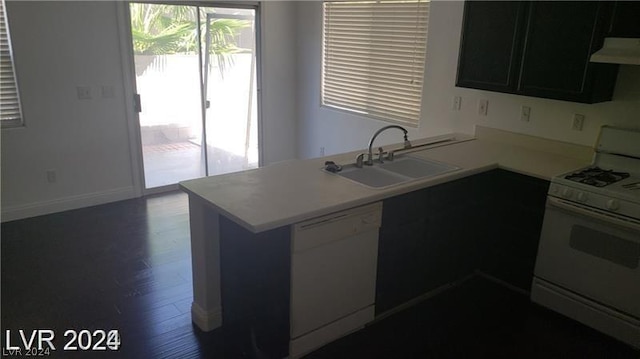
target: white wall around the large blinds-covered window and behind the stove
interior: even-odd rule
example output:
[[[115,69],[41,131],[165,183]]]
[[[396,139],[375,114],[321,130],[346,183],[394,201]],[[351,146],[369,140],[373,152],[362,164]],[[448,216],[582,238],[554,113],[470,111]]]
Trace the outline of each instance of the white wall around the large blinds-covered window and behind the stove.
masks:
[[[621,66],[614,100],[584,105],[455,87],[463,2],[433,1],[429,18],[427,67],[422,116],[411,137],[457,131],[473,133],[476,124],[508,131],[592,145],[602,124],[640,126],[640,66]],[[298,3],[299,156],[317,157],[366,147],[384,122],[320,107],[322,5]],[[452,111],[454,96],[462,96],[460,111]],[[489,100],[489,114],[477,116],[477,101]],[[520,106],[531,107],[531,121],[520,121]],[[571,130],[573,113],[586,115],[582,132]],[[399,142],[389,131],[380,143]]]

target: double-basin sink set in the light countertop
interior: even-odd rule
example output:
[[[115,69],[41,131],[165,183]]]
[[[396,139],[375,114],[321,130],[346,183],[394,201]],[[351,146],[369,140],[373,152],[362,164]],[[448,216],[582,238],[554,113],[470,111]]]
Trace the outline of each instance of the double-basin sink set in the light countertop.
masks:
[[[354,164],[346,165],[337,175],[365,186],[381,188],[425,179],[458,169],[460,168],[447,163],[402,156],[393,161],[374,163],[373,166],[362,168]]]

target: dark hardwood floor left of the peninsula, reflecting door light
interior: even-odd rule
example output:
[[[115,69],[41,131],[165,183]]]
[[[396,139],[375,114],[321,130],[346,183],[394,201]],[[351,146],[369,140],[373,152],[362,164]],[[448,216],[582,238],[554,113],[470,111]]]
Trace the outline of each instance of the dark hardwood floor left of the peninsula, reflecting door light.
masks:
[[[187,197],[152,196],[2,224],[2,329],[118,329],[117,353],[221,357],[191,324]],[[4,334],[3,334],[4,347]]]

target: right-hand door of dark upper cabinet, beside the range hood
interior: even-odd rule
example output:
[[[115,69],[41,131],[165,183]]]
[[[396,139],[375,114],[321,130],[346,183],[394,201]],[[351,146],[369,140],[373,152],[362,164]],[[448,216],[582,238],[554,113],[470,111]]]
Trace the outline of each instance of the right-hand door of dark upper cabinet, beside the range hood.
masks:
[[[518,92],[585,103],[611,100],[617,65],[589,62],[602,45],[609,5],[531,2]]]

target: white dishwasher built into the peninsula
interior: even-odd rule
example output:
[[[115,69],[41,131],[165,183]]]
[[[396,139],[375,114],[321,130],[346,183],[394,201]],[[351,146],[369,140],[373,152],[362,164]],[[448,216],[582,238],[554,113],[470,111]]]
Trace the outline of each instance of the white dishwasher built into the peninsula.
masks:
[[[378,202],[292,226],[290,358],[373,320],[381,221]]]

